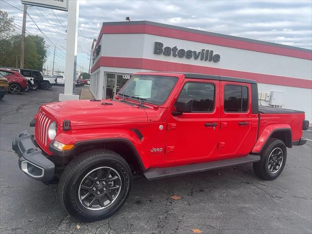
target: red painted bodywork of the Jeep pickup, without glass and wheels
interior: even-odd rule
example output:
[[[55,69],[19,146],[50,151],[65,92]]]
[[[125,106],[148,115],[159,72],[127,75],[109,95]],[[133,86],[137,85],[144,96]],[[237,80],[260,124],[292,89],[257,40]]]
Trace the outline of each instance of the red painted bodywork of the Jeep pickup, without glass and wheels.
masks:
[[[118,100],[75,100],[42,105],[36,115],[35,138],[48,155],[47,127],[57,121],[56,140],[64,144],[77,144],[89,140],[127,140],[137,150],[144,169],[173,167],[259,153],[268,137],[276,129],[290,129],[292,141],[302,136],[304,114],[252,114],[250,83],[185,78],[183,74],[137,73],[137,75],[174,76],[178,80],[162,105],[144,103],[145,107],[130,105]],[[210,113],[183,113],[173,116],[175,103],[184,84],[200,82],[215,87],[215,105]],[[240,85],[248,88],[248,111],[226,113],[224,86]],[[121,99],[116,97],[116,99]],[[138,104],[136,100],[128,100]],[[102,105],[102,103],[110,105]],[[260,117],[260,123],[258,123]],[[62,123],[70,120],[71,129],[63,131]],[[248,122],[239,125],[239,122]],[[216,127],[205,126],[216,123]],[[140,140],[133,130],[139,130]],[[257,136],[258,133],[258,136]]]

